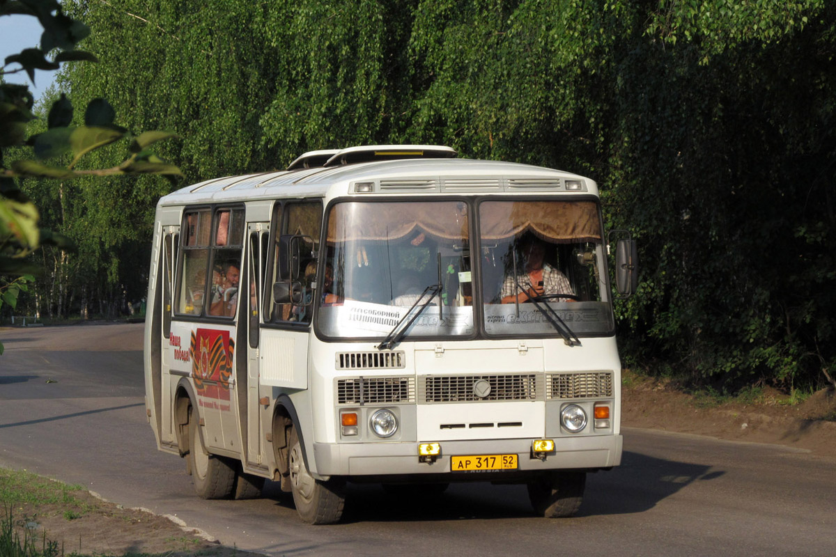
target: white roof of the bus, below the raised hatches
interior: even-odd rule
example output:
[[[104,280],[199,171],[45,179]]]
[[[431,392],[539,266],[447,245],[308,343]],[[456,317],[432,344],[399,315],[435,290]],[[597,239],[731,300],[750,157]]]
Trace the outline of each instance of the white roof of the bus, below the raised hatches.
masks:
[[[362,193],[358,192],[358,183],[367,185]],[[410,158],[215,178],[166,195],[159,205],[338,195],[544,192],[598,195],[598,187],[594,180],[583,176],[540,166],[496,160]]]

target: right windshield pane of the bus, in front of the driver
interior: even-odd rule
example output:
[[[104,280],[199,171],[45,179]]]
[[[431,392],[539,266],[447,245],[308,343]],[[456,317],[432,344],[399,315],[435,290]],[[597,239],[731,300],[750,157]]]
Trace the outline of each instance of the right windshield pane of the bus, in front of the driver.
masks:
[[[483,201],[479,253],[485,332],[611,333],[601,230],[593,201]]]

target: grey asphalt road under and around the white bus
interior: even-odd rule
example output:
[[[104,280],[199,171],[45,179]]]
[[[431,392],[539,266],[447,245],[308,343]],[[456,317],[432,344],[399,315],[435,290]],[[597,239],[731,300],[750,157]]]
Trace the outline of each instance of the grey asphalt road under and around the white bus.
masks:
[[[836,554],[836,461],[776,445],[624,432],[624,463],[591,474],[573,519],[535,517],[521,486],[458,484],[438,499],[351,486],[341,524],[308,526],[274,485],[204,501],[145,419],[142,325],[0,330],[0,466],[174,514],[271,555]]]

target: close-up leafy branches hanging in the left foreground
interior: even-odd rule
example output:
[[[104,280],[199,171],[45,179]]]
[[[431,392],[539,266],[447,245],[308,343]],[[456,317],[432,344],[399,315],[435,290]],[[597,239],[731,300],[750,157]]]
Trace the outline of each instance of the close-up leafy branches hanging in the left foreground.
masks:
[[[0,0],[0,17],[26,15],[38,18],[43,27],[38,48],[24,48],[3,61],[0,78],[24,71],[34,80],[36,69],[57,69],[66,62],[96,62],[97,58],[76,48],[89,34],[89,28],[63,12],[55,0]],[[54,53],[52,58],[48,58]],[[92,99],[84,111],[84,123],[74,125],[73,105],[60,95],[45,114],[46,129],[27,138],[27,124],[35,119],[33,97],[28,86],[0,81],[0,308],[12,309],[18,295],[28,289],[31,273],[38,266],[26,260],[40,246],[66,250],[68,237],[39,226],[38,208],[21,189],[24,178],[69,180],[83,176],[125,174],[180,175],[147,148],[172,136],[166,132],[131,134],[115,124],[115,111],[104,99]],[[119,165],[107,168],[79,168],[89,153],[120,139],[129,142],[129,156]],[[37,160],[21,155],[21,146],[31,148]],[[9,157],[13,154],[13,157]],[[9,160],[9,159],[13,160]],[[69,160],[64,165],[46,160]],[[0,352],[3,345],[0,344]]]

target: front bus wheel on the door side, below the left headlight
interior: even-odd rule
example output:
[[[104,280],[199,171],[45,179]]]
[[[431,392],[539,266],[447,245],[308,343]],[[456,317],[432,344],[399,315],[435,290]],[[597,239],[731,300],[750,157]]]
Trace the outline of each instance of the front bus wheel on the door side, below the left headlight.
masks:
[[[293,504],[299,518],[308,524],[339,522],[345,503],[344,484],[335,480],[322,482],[308,473],[295,427],[290,428],[288,449]]]

